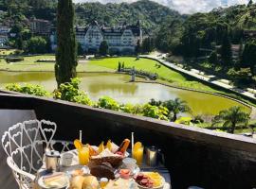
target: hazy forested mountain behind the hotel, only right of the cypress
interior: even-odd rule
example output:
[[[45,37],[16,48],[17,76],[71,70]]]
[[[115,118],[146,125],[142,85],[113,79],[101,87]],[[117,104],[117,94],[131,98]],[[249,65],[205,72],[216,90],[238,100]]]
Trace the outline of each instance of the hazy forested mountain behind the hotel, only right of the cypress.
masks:
[[[100,25],[117,26],[124,22],[136,24],[141,21],[142,28],[152,33],[167,18],[183,19],[177,11],[159,5],[153,1],[141,0],[127,4],[83,3],[76,6],[77,24],[86,25],[97,20]]]

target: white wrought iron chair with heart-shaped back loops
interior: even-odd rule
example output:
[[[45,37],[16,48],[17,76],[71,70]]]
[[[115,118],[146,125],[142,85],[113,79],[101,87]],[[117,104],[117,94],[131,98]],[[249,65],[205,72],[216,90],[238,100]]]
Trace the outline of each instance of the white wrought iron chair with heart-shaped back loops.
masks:
[[[46,148],[55,149],[56,146],[61,152],[70,150],[72,143],[53,140],[56,129],[53,122],[30,120],[14,125],[4,133],[2,146],[19,188],[33,188],[35,173],[43,165]]]

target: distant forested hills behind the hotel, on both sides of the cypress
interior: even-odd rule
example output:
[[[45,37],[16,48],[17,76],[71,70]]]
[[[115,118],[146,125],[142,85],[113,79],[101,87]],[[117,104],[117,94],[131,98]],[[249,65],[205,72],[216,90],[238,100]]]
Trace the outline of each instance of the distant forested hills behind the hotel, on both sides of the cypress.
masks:
[[[21,22],[31,17],[56,21],[57,0],[0,0],[0,19]],[[83,3],[75,6],[76,24],[85,26],[93,20],[101,25],[117,26],[141,21],[143,29],[155,31],[167,18],[181,19],[181,15],[155,2],[141,0],[136,3],[106,4]]]

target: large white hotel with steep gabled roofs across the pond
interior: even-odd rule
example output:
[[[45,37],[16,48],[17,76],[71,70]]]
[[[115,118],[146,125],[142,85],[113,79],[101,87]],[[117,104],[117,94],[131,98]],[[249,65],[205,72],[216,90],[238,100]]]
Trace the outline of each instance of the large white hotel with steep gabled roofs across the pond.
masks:
[[[101,43],[108,43],[109,52],[112,54],[133,54],[136,51],[137,43],[142,43],[142,29],[139,21],[135,26],[105,27],[99,26],[94,21],[85,27],[77,26],[76,37],[78,43],[82,45],[84,52],[96,53],[99,51]],[[55,33],[51,36],[52,47],[56,47]]]

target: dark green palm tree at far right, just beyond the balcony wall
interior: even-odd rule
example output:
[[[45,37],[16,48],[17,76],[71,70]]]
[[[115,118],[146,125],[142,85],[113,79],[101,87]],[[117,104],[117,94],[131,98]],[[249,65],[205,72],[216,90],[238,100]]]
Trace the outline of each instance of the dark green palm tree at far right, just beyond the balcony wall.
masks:
[[[223,127],[229,128],[229,133],[234,133],[238,124],[245,124],[247,126],[249,114],[243,112],[241,107],[235,106],[219,112],[212,120],[212,125],[223,123]]]

